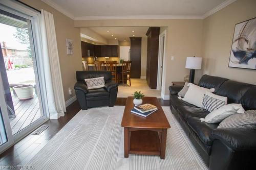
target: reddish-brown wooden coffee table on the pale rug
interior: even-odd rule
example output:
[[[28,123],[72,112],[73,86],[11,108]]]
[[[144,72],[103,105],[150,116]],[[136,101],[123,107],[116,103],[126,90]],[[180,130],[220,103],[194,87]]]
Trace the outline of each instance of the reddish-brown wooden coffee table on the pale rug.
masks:
[[[124,157],[129,154],[160,155],[165,157],[168,120],[157,98],[144,97],[143,104],[150,103],[158,110],[148,117],[131,113],[133,97],[126,100],[121,126],[124,128]]]

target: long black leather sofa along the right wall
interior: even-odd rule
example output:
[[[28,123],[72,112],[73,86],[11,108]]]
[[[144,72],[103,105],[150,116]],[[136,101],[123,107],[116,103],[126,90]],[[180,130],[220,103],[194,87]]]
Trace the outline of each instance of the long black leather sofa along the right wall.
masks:
[[[228,103],[256,109],[256,86],[221,77],[204,75],[199,86],[215,88]],[[209,169],[256,169],[256,130],[217,129],[219,124],[201,122],[209,111],[178,99],[183,86],[169,86],[170,109]]]

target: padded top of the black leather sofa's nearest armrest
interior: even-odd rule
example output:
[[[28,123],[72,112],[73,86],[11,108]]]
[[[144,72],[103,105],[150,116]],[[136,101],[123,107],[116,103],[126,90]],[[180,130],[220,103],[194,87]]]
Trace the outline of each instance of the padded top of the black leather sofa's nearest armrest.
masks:
[[[219,139],[235,151],[256,150],[256,129],[215,129],[210,139]]]

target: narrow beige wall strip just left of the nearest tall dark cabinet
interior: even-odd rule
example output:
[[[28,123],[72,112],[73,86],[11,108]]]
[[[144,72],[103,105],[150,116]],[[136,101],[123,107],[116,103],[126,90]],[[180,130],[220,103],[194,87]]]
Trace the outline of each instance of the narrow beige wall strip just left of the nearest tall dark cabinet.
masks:
[[[141,71],[140,76],[146,76],[146,55],[147,55],[147,38],[141,38]]]

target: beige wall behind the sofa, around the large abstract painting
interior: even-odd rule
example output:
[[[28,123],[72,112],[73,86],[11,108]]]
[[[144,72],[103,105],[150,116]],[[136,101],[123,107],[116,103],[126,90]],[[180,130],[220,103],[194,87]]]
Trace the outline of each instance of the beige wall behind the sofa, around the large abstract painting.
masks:
[[[209,74],[256,84],[256,71],[229,68],[229,55],[236,23],[256,16],[255,0],[238,0],[203,20],[203,69],[196,75]]]

